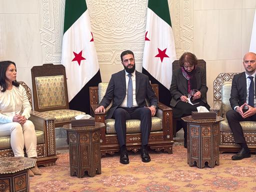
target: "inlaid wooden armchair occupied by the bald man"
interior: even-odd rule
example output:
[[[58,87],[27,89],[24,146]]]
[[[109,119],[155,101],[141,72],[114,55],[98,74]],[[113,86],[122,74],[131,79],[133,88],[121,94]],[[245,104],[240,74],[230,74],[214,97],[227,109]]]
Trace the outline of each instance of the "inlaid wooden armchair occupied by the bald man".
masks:
[[[213,103],[211,110],[216,111],[217,115],[225,120],[220,122],[219,151],[239,151],[240,145],[235,144],[233,133],[228,125],[225,114],[231,109],[229,98],[231,91],[232,78],[237,73],[220,73],[213,81]],[[240,122],[245,140],[251,151],[256,151],[256,122]]]

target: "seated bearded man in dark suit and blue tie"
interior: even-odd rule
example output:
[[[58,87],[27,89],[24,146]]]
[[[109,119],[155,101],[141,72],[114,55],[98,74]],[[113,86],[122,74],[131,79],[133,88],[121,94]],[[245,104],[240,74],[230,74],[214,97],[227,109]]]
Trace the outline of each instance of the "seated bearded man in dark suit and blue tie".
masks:
[[[128,164],[126,148],[126,120],[140,119],[141,148],[140,156],[143,162],[149,162],[147,152],[148,137],[151,130],[151,116],[157,108],[157,97],[151,87],[148,76],[135,70],[134,54],[130,50],[121,53],[121,63],[124,70],[112,74],[106,92],[95,112],[105,112],[112,101],[113,104],[106,114],[114,118],[114,128],[120,146],[120,163]],[[150,106],[146,106],[148,99]]]

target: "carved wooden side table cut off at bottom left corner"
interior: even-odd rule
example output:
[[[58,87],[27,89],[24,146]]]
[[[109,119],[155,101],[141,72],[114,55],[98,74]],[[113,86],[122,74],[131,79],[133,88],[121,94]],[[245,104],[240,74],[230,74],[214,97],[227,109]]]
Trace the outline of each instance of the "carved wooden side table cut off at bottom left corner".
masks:
[[[0,158],[0,191],[30,191],[27,169],[35,166],[36,159],[22,156]]]

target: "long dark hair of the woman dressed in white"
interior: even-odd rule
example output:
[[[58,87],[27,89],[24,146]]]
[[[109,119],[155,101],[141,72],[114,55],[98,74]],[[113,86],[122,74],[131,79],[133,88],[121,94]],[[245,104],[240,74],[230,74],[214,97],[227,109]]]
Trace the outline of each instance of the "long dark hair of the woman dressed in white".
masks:
[[[7,82],[5,81],[5,79],[6,79],[5,73],[10,64],[14,64],[14,66],[16,67],[15,62],[13,62],[13,61],[10,61],[10,60],[0,61],[0,89],[1,89],[1,92],[4,92],[8,87]],[[14,80],[14,81],[12,81],[12,85],[19,86],[19,83],[16,80]]]

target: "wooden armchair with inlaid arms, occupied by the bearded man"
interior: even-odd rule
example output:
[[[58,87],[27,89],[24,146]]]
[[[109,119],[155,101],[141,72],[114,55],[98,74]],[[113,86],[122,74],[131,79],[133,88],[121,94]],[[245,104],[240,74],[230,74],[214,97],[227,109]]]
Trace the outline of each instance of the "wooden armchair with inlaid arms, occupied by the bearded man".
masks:
[[[96,122],[104,122],[105,127],[100,129],[100,152],[113,154],[119,151],[119,144],[114,130],[114,119],[106,119],[106,113],[94,113],[98,103],[105,94],[108,83],[99,83],[98,86],[89,87],[91,114]],[[158,85],[152,84],[158,98]],[[111,104],[110,104],[111,105]],[[106,109],[108,109],[108,106]],[[126,146],[128,150],[136,152],[141,145],[139,130],[140,120],[126,120]],[[164,150],[172,153],[172,110],[162,103],[158,104],[156,115],[152,117],[152,128],[149,135],[148,146],[156,151]]]

